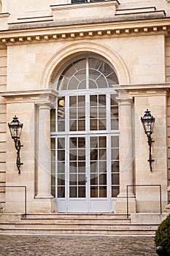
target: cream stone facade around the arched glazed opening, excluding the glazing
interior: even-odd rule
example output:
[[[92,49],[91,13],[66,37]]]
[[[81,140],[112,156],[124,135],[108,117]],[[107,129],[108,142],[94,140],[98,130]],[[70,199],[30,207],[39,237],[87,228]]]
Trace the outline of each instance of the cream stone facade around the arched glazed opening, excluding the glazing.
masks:
[[[19,8],[18,8],[19,6]],[[50,108],[58,97],[55,76],[75,56],[95,53],[114,67],[119,84],[120,194],[115,212],[126,211],[127,185],[161,185],[169,203],[170,1],[1,1],[0,181],[26,186],[28,212],[57,211],[50,192]],[[152,172],[140,117],[155,116]],[[7,123],[23,123],[21,174]],[[0,189],[5,211],[23,211],[23,190]],[[131,212],[159,212],[159,187],[129,188]]]

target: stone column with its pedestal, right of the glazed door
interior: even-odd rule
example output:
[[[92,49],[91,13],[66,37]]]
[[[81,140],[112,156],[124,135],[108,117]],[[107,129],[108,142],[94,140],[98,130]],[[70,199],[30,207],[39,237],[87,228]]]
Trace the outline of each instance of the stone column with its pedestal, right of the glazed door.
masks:
[[[133,185],[133,127],[132,127],[132,104],[133,99],[129,96],[117,97],[120,110],[120,194],[115,202],[115,211],[125,213],[127,206],[126,187]],[[135,200],[133,187],[128,188],[129,211],[135,212]],[[132,199],[133,198],[133,199]]]

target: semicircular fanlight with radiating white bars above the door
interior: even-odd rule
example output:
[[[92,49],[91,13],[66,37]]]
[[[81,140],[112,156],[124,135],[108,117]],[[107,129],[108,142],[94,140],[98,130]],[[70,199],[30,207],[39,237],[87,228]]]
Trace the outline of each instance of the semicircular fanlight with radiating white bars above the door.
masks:
[[[58,91],[104,89],[112,88],[118,80],[115,70],[104,59],[97,59],[92,55],[72,61],[54,83]]]

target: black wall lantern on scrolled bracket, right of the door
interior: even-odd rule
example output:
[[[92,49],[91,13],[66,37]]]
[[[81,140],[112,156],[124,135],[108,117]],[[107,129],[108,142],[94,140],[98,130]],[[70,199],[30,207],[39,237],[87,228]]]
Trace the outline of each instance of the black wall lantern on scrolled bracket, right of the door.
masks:
[[[141,121],[144,127],[144,132],[147,135],[147,143],[150,147],[149,159],[147,161],[150,162],[150,171],[152,172],[152,162],[154,162],[155,160],[152,159],[152,155],[151,155],[151,145],[152,145],[152,142],[154,142],[154,140],[152,140],[151,138],[151,135],[153,132],[155,118],[151,115],[148,109],[144,113],[145,113],[144,116],[141,117]]]

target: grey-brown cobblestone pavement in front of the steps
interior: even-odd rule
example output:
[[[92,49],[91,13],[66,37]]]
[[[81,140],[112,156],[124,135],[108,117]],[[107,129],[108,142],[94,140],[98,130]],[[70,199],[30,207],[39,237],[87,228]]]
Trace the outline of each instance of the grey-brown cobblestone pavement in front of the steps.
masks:
[[[150,236],[0,235],[1,256],[156,256]]]

